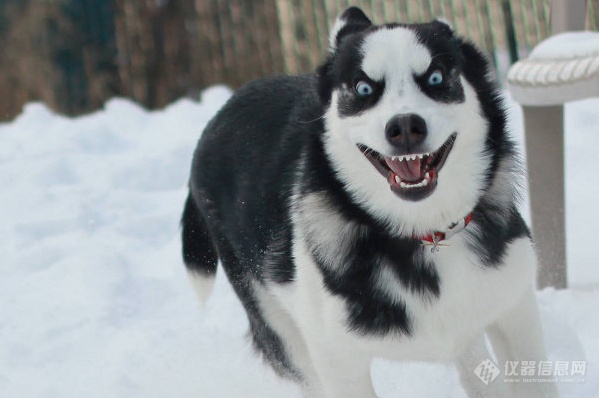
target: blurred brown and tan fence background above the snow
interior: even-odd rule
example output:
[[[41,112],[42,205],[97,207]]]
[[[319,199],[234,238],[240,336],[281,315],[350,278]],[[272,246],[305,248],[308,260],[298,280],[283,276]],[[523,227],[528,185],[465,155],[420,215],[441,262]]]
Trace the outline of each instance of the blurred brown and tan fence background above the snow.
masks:
[[[213,84],[311,72],[336,15],[442,16],[485,49],[502,80],[550,35],[550,0],[0,0],[0,121],[39,100],[79,115],[114,96],[161,108]],[[598,0],[586,29],[598,30]]]

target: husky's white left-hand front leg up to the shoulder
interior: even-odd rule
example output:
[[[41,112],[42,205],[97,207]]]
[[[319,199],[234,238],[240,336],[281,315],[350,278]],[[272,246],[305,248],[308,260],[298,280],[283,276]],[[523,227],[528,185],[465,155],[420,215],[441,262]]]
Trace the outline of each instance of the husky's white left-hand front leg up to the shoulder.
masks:
[[[286,287],[271,286],[270,305],[265,306],[265,295],[260,295],[265,317],[269,322],[274,320],[274,308],[278,308],[293,322],[294,327],[273,326],[284,336],[283,340],[292,337],[293,341],[302,342],[295,348],[303,346],[305,351],[296,353],[292,360],[302,373],[309,375],[303,384],[306,397],[375,397],[369,372],[372,354],[355,346],[364,342],[347,333],[344,302],[326,291],[321,274],[302,243],[303,234],[295,233],[296,279]]]

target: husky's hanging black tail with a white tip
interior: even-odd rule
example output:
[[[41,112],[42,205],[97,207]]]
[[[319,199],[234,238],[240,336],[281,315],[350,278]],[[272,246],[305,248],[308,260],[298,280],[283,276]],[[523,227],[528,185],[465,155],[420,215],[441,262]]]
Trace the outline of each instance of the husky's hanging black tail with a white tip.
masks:
[[[191,193],[185,202],[181,227],[183,261],[192,286],[204,307],[215,284],[219,257],[206,221],[194,203]]]

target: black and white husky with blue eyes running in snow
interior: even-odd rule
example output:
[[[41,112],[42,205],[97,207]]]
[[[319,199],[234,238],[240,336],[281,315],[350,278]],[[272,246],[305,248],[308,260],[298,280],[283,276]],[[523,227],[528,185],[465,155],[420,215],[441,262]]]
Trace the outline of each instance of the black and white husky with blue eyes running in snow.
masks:
[[[555,396],[474,372],[545,359],[487,61],[444,22],[357,8],[330,46],[316,74],[250,83],[206,127],[182,220],[200,294],[220,260],[255,347],[307,397],[375,397],[374,357],[454,361],[469,396]]]

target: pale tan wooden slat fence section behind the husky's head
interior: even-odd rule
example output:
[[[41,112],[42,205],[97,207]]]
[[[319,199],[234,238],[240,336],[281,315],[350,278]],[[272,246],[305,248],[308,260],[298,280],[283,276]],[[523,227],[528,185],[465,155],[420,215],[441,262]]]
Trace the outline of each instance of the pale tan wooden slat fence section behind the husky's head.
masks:
[[[516,51],[513,57],[523,56],[549,35],[549,7],[545,0],[280,0],[286,71],[297,73],[319,62],[326,51],[327,42],[322,37],[329,21],[352,4],[363,8],[374,22],[426,22],[443,17],[459,34],[487,50],[496,58],[497,66],[504,69],[510,61],[511,45]],[[509,42],[511,35],[514,40]]]

